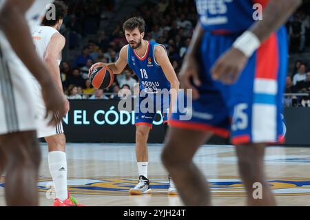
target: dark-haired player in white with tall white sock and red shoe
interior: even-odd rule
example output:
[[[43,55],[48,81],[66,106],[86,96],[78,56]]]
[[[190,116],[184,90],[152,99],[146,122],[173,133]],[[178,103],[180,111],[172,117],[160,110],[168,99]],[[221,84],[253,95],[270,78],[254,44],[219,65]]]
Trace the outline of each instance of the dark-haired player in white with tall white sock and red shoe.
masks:
[[[57,85],[60,93],[63,93],[59,64],[61,63],[61,50],[65,47],[65,37],[59,33],[63,18],[67,13],[67,6],[63,1],[54,1],[55,19],[48,19],[45,15],[41,26],[34,29],[32,38],[41,60],[52,74],[52,81]],[[48,12],[50,13],[50,12]],[[56,199],[54,206],[78,206],[74,197],[68,193],[67,186],[67,158],[65,155],[65,134],[63,124],[59,122],[49,126],[44,119],[45,104],[41,96],[41,86],[32,77],[32,90],[35,94],[34,109],[37,110],[37,137],[44,137],[48,143],[48,166],[54,181]],[[65,96],[63,95],[65,98]],[[69,111],[69,102],[65,99],[65,111]]]

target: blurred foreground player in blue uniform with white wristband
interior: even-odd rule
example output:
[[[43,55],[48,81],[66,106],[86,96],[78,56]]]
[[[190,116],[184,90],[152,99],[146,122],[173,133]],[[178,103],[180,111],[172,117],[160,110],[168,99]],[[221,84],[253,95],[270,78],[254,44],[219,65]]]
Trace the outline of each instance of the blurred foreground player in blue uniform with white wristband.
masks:
[[[247,204],[276,204],[265,180],[264,151],[267,143],[283,141],[287,70],[283,24],[300,3],[196,0],[199,22],[180,72],[181,88],[193,89],[192,109],[187,109],[192,119],[180,120],[187,111],[172,113],[162,154],[185,205],[211,204],[209,186],[192,158],[214,134],[230,135],[236,145]],[[262,17],[253,8],[258,13],[262,8]],[[262,197],[254,198],[255,183],[261,184]]]

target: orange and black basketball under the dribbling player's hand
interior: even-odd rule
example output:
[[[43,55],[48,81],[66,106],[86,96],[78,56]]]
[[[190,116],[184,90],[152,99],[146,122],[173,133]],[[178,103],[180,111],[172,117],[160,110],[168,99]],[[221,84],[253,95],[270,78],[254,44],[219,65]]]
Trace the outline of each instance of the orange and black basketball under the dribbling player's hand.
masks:
[[[107,89],[114,82],[114,74],[109,67],[96,67],[90,74],[90,83],[96,89]]]

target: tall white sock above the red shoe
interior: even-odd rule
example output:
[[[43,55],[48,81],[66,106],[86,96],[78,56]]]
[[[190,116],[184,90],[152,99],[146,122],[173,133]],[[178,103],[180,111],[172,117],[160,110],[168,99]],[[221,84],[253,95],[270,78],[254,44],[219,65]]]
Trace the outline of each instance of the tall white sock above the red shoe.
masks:
[[[56,198],[68,199],[67,188],[67,158],[63,151],[51,151],[48,153],[48,166],[55,184]]]

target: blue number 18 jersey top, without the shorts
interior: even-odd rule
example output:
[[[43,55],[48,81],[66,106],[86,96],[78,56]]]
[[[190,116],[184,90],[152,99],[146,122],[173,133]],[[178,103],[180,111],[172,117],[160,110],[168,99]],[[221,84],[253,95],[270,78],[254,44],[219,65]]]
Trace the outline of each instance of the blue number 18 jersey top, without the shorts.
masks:
[[[161,69],[161,66],[155,60],[154,50],[156,45],[160,44],[154,41],[147,41],[147,52],[142,58],[136,54],[130,45],[128,45],[127,51],[127,64],[134,70],[136,76],[138,76],[140,90],[144,90],[148,94],[157,93],[158,89],[170,89],[170,83],[163,69]]]

